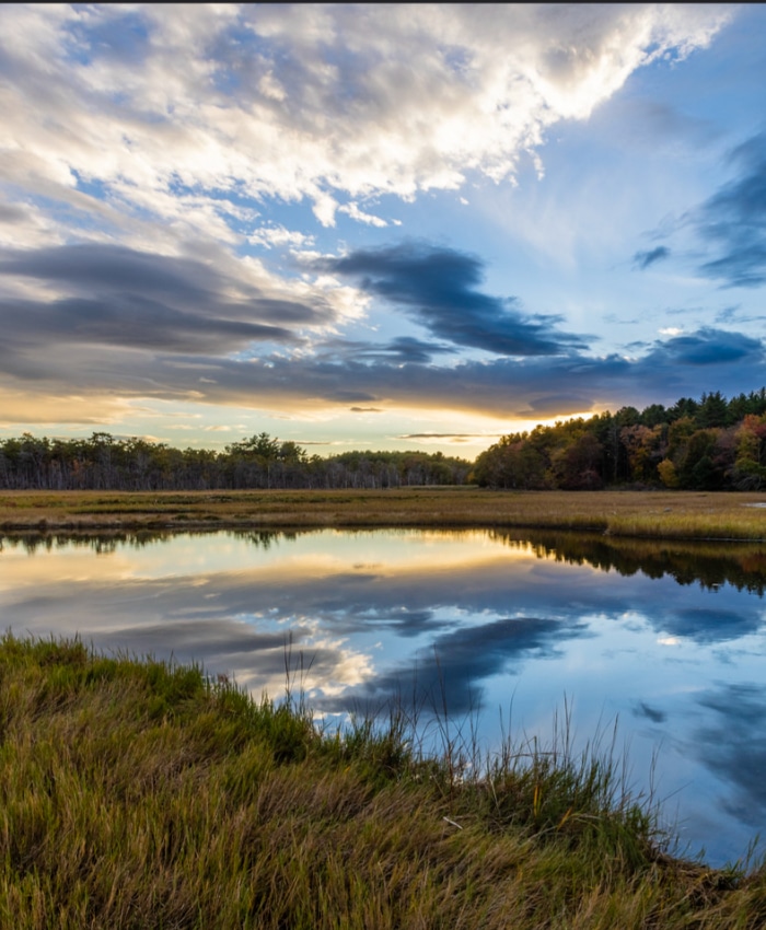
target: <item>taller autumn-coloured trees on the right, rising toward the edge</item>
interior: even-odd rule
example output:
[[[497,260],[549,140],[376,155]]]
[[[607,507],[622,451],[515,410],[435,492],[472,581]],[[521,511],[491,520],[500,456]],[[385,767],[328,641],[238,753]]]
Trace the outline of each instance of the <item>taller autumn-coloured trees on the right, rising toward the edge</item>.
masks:
[[[511,433],[478,456],[472,479],[522,489],[766,488],[766,388],[730,400],[717,391],[672,407],[623,407]]]

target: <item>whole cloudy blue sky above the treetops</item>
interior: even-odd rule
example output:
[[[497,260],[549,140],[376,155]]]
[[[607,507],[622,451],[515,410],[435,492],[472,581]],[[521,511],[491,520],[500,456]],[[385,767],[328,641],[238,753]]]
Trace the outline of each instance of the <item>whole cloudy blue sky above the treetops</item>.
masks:
[[[766,385],[766,7],[2,4],[0,439],[473,458]]]

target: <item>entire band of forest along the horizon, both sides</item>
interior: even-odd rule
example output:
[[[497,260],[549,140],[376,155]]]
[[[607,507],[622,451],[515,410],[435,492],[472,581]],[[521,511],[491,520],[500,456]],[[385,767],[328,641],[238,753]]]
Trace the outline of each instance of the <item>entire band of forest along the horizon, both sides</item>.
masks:
[[[94,432],[89,439],[0,440],[7,490],[399,488],[597,490],[766,487],[766,388],[720,392],[671,407],[610,411],[509,433],[474,463],[441,452],[351,451],[322,457],[262,432],[221,451],[174,449]]]

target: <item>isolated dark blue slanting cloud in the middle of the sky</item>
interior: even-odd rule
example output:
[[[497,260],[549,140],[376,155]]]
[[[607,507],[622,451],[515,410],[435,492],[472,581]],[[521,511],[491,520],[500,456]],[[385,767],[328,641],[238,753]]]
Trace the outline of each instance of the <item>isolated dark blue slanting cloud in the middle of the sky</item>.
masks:
[[[316,264],[384,298],[456,346],[499,356],[557,356],[585,346],[581,337],[556,329],[559,317],[525,315],[517,298],[483,293],[481,261],[456,249],[404,243]]]

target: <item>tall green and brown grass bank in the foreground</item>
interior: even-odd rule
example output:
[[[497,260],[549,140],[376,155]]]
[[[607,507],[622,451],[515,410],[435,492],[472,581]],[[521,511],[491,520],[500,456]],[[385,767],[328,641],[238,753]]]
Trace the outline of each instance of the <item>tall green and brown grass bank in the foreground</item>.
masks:
[[[0,643],[0,926],[756,928],[766,871],[658,846],[593,752],[421,758],[196,669]],[[469,751],[471,747],[467,747]],[[463,772],[463,775],[461,775]]]

